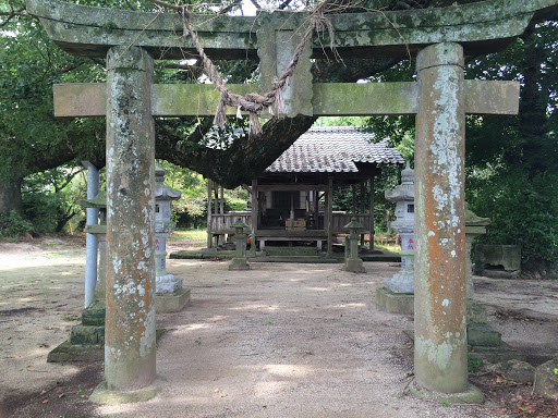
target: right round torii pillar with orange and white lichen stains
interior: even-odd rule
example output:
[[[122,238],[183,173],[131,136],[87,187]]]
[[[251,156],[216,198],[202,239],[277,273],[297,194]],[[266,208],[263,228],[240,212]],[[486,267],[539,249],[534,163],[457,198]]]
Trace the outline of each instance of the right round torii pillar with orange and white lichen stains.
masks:
[[[416,58],[415,346],[417,394],[480,402],[468,382],[463,48],[436,44]],[[438,396],[436,395],[438,394]]]

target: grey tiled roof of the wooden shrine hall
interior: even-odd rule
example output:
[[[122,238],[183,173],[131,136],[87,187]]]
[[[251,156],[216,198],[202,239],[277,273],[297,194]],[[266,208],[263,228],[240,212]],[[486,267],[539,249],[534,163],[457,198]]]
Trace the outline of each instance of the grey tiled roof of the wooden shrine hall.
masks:
[[[354,127],[312,127],[266,169],[268,173],[357,173],[355,162],[402,164],[387,140],[369,143],[372,134]]]

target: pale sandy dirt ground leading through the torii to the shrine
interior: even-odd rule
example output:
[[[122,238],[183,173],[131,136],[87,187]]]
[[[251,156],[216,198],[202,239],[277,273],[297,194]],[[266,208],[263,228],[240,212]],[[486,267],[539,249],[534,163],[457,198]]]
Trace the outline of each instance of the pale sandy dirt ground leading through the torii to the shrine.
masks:
[[[0,243],[0,418],[521,416],[519,388],[498,388],[480,406],[404,395],[412,346],[402,331],[412,317],[376,308],[376,286],[398,270],[381,262],[352,274],[338,265],[229,272],[227,262],[168,260],[192,304],[158,315],[167,330],[157,348],[161,394],[97,407],[87,395],[102,365],[46,362],[81,312],[84,259],[65,241]],[[477,278],[476,287],[505,341],[556,356],[557,283]]]

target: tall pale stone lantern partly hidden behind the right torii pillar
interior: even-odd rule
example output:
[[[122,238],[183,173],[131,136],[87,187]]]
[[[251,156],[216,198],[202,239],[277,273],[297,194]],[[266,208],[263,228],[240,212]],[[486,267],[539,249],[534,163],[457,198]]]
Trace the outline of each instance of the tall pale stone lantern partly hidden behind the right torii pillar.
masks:
[[[396,202],[397,220],[391,223],[401,237],[401,270],[387,279],[385,286],[393,293],[414,293],[414,171],[401,172],[401,184],[386,190],[386,199]]]

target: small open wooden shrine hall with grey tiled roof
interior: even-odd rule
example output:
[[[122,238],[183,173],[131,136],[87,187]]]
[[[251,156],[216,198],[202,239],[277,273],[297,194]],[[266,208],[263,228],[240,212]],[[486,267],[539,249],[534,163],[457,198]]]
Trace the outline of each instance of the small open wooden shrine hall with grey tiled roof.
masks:
[[[210,189],[216,185],[209,185],[208,246],[215,247],[220,236],[233,234],[231,225],[241,218],[256,244],[253,253],[280,242],[315,243],[319,249],[327,243],[331,253],[335,235],[348,233],[343,226],[355,217],[364,226],[361,243],[364,234],[369,234],[373,248],[374,177],[381,173],[381,164],[404,161],[387,140],[374,144],[371,138],[372,134],[354,127],[312,127],[252,181],[248,211],[223,213],[223,205],[215,205],[213,212]],[[352,189],[351,213],[332,210],[332,193],[339,187]],[[372,192],[369,201],[361,199],[360,207],[357,187],[361,197],[366,187]]]

